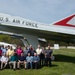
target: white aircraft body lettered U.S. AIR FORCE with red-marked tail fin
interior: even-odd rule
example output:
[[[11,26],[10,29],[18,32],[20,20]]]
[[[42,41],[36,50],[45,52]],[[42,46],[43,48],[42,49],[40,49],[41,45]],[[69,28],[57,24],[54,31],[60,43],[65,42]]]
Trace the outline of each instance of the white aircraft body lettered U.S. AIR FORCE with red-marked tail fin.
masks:
[[[67,24],[66,24],[67,23]],[[0,14],[0,30],[58,41],[75,41],[75,14],[52,25]]]

